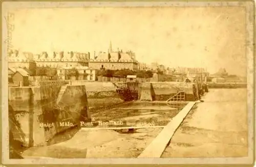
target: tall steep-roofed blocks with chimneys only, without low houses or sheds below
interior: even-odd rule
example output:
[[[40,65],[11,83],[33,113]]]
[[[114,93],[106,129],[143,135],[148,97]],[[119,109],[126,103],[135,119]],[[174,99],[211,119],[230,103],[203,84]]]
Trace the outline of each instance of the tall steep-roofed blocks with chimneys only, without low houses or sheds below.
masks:
[[[9,67],[33,67],[49,66],[53,68],[63,67],[88,67],[90,69],[130,69],[138,70],[143,68],[135,59],[135,53],[130,51],[112,50],[112,44],[108,52],[94,52],[93,57],[90,52],[42,52],[33,54],[30,52],[19,52],[17,50],[8,53]]]

